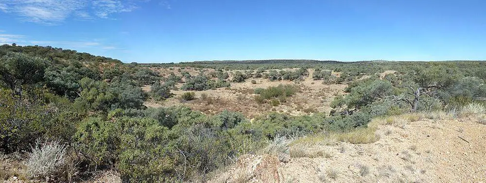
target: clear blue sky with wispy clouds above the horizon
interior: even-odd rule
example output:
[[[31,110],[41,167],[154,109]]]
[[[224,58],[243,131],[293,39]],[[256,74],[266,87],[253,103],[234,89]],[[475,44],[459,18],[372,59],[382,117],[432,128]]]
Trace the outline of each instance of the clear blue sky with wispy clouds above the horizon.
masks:
[[[485,0],[0,0],[0,44],[125,63],[486,60]]]

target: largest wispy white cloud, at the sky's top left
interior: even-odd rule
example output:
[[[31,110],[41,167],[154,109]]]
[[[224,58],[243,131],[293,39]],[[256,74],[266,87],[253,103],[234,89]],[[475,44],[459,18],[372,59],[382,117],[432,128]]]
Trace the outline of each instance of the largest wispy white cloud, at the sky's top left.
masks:
[[[16,14],[22,21],[57,24],[69,17],[80,19],[108,18],[131,12],[142,0],[0,0],[0,10]]]

